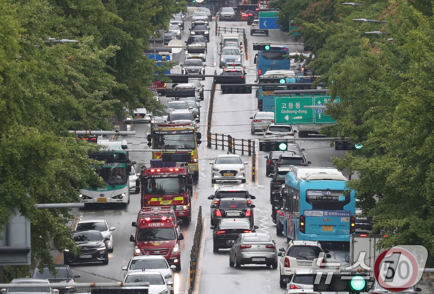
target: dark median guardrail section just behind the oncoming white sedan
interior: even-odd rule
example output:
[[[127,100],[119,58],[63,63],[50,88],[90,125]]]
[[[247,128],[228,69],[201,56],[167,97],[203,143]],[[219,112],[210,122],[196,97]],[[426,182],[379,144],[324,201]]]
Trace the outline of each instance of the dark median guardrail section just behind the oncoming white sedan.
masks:
[[[221,147],[222,150],[227,148],[229,153],[235,154],[236,151],[241,151],[241,155],[244,155],[244,152],[247,152],[249,156],[252,156],[252,146],[255,145],[255,141],[250,139],[235,139],[231,135],[224,134],[212,134],[211,132],[207,132],[207,147],[219,149]]]

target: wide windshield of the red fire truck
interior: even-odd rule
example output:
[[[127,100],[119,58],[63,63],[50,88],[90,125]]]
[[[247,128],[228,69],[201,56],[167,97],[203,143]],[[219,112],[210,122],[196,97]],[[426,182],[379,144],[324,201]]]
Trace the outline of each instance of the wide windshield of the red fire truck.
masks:
[[[145,180],[147,195],[182,194],[187,191],[184,178],[148,178]]]

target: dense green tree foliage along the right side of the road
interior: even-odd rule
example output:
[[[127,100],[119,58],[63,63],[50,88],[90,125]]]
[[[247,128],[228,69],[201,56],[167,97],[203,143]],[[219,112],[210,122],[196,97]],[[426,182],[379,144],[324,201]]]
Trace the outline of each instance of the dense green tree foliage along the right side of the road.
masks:
[[[433,3],[340,3],[282,4],[284,13],[288,7],[305,5],[296,11],[296,19],[304,42],[316,55],[309,66],[332,96],[341,97],[340,105],[329,106],[337,123],[324,132],[363,145],[335,159],[335,164],[358,172],[359,178],[349,185],[376,228],[389,235],[384,246],[422,244],[434,253]],[[365,34],[378,30],[385,34]]]

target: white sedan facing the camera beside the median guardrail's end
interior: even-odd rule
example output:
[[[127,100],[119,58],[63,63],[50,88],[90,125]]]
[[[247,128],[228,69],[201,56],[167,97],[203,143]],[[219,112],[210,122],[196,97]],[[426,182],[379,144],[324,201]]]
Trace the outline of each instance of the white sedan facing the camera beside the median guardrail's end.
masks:
[[[240,155],[218,155],[214,162],[210,162],[212,165],[211,183],[214,184],[217,180],[241,180],[242,183],[245,183],[246,169],[244,165],[247,164],[248,162],[243,162]]]

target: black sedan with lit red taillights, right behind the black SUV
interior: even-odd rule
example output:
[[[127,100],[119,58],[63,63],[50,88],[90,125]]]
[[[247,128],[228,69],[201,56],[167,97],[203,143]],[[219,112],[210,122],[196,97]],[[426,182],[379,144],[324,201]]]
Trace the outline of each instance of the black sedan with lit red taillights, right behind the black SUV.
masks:
[[[247,218],[253,224],[253,209],[246,198],[220,198],[217,204],[211,206],[211,225],[224,218]]]

